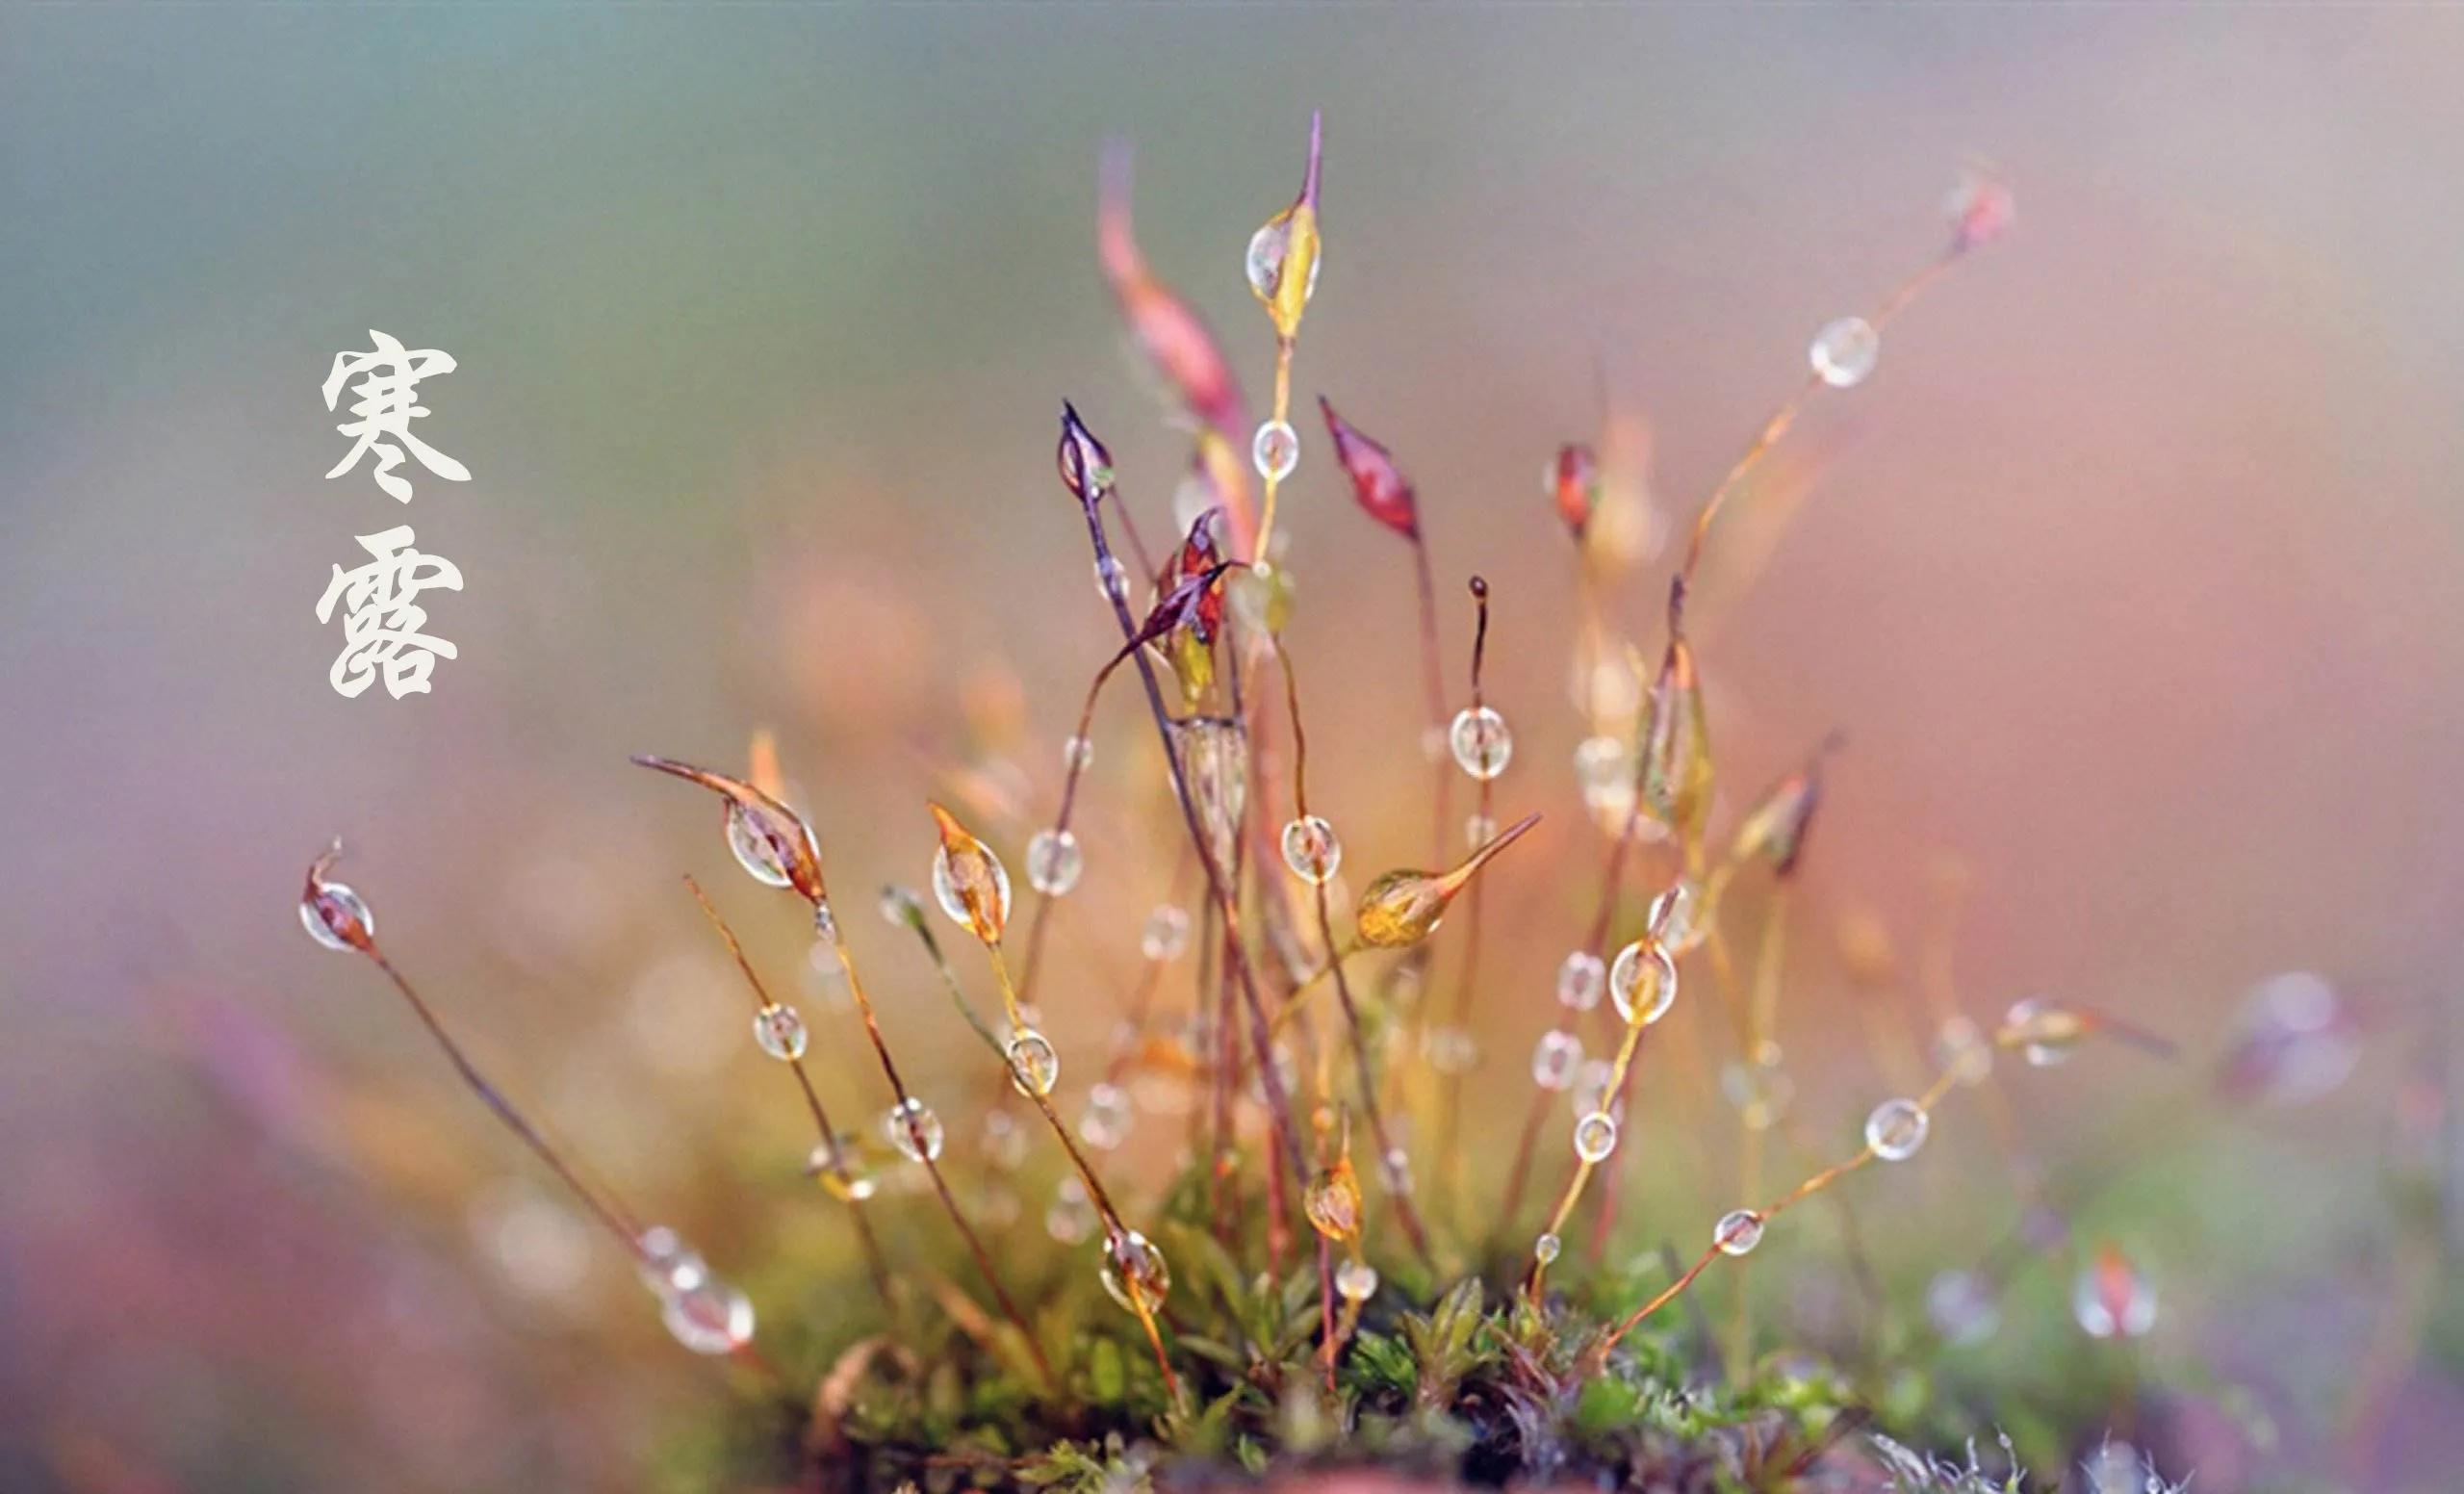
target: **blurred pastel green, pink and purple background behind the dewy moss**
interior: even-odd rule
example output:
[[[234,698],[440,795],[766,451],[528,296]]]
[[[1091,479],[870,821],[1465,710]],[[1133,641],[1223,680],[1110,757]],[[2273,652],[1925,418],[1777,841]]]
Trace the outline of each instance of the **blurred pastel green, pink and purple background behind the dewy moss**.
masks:
[[[776,727],[835,880],[870,888],[922,883],[922,796],[991,747],[1030,784],[991,828],[1015,858],[1111,629],[1057,404],[1151,535],[1188,449],[1096,276],[1099,148],[1133,143],[1146,254],[1257,399],[1242,247],[1321,106],[1299,390],[1419,481],[1456,658],[1461,577],[1496,584],[1501,806],[1552,816],[1498,868],[1483,1104],[1520,1112],[1597,860],[1542,459],[1607,387],[1648,422],[1663,523],[1690,513],[1811,330],[1937,251],[1981,153],[2018,232],[1809,414],[1804,500],[1740,520],[1754,565],[1703,619],[1730,809],[1848,737],[1784,1016],[1801,1104],[1848,1137],[1878,1085],[1850,1006],[1885,996],[1828,929],[1878,920],[1915,969],[1964,880],[1979,1013],[2040,989],[2186,1043],[2013,1087],[2028,1146],[2097,1178],[2080,1228],[2161,1289],[2080,1373],[2126,1353],[2195,1398],[2208,1492],[2454,1487],[2464,1339],[2407,1188],[2464,957],[2459,67],[2464,17],[2397,7],[0,15],[0,1484],[690,1464],[722,1378],[375,974],[301,937],[335,833],[397,959],[638,1208],[771,1321],[860,1312],[675,880],[727,870],[715,814],[626,754],[737,764]],[[318,385],[367,328],[461,362],[421,434],[471,483],[411,471],[399,508],[323,481]],[[1313,786],[1375,870],[1427,841],[1409,567],[1301,434]],[[466,577],[431,606],[461,658],[434,695],[342,700],[313,604],[394,523]],[[1616,599],[1643,648],[1651,574]],[[986,742],[1005,712],[1018,740]],[[1129,695],[1096,762],[1047,976],[1064,1050],[1111,1028],[1170,868]],[[710,880],[796,984],[793,910]],[[919,1082],[958,1087],[926,971],[855,932]],[[2220,1095],[2245,994],[2292,969],[2361,1067],[2304,1104]],[[1947,1112],[1873,1178],[1900,1289],[2008,1235],[2003,1166]],[[1663,1228],[1727,1203],[1676,1188]],[[1944,1373],[2013,1420],[2060,1403],[2062,1294]]]

